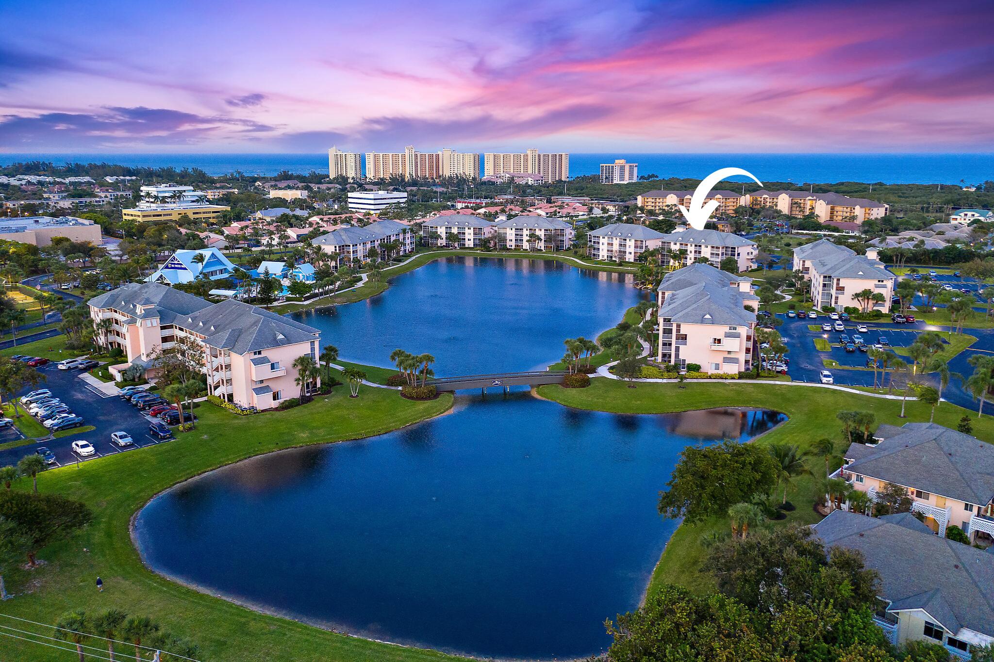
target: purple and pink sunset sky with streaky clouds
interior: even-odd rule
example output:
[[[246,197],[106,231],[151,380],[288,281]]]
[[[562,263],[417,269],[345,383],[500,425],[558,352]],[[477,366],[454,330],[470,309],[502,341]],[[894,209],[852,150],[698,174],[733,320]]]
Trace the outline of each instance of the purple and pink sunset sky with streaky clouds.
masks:
[[[991,12],[2,2],[0,152],[991,152]]]

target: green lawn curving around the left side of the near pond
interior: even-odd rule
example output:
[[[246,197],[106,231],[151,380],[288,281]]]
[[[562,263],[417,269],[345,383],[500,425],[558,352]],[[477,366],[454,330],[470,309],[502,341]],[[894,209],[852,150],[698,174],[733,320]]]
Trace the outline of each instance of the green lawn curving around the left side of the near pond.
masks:
[[[433,651],[405,648],[335,634],[302,623],[262,615],[214,596],[186,589],[146,570],[131,544],[128,524],[154,494],[177,482],[250,456],[307,444],[377,435],[437,416],[452,405],[442,394],[426,402],[404,400],[396,391],[360,389],[348,397],[338,386],[330,396],[287,410],[240,417],[205,405],[197,429],[168,444],[115,454],[79,467],[45,471],[39,489],[82,499],[95,519],[73,540],[41,552],[47,565],[6,577],[17,595],[3,611],[55,623],[74,608],[96,612],[107,607],[149,615],[202,648],[203,660],[440,660]],[[21,480],[19,489],[31,489]],[[104,591],[93,589],[96,576]],[[62,662],[54,649],[5,639],[4,659]],[[127,648],[119,651],[126,653]]]

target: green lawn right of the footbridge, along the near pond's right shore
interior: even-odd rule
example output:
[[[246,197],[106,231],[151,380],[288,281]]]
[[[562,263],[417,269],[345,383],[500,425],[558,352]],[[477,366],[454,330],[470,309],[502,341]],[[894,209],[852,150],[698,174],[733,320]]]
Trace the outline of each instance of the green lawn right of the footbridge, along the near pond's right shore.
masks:
[[[877,423],[904,425],[909,422],[928,420],[929,408],[914,400],[907,402],[908,418],[901,419],[901,401],[884,400],[869,396],[846,393],[830,389],[814,391],[804,386],[772,386],[757,383],[709,384],[687,382],[686,388],[676,384],[638,384],[630,389],[620,381],[602,377],[593,379],[585,389],[565,389],[557,384],[541,386],[539,394],[561,404],[577,407],[630,414],[654,414],[663,412],[707,409],[713,407],[762,407],[783,412],[789,421],[757,440],[759,444],[796,444],[802,450],[821,437],[835,442],[836,452],[841,453],[847,446],[843,439],[842,426],[835,418],[836,412],[843,410],[870,411],[877,417]],[[942,403],[935,409],[935,422],[955,429],[960,417],[969,415],[973,421],[973,434],[987,442],[994,442],[994,418],[976,419],[975,413],[949,403]],[[818,476],[825,474],[825,463],[821,458],[810,458],[808,466]],[[663,485],[660,484],[662,488]],[[788,513],[782,522],[813,523],[819,519],[812,506],[818,494],[814,477],[804,477],[797,481],[796,490],[788,493],[788,498],[797,509]],[[712,530],[724,529],[728,521],[716,517],[708,522],[693,526],[682,525],[666,545],[659,565],[653,574],[650,590],[662,583],[679,584],[692,591],[705,593],[713,588],[707,575],[700,573],[706,551],[700,545],[701,535]]]

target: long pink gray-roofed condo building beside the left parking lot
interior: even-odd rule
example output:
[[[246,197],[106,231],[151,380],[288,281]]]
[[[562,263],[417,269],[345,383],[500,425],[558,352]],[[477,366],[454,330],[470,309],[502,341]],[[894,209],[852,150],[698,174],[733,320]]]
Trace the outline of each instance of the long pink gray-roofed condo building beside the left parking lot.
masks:
[[[300,393],[293,361],[317,360],[320,331],[238,301],[211,304],[159,283],[128,283],[88,306],[97,337],[127,356],[126,364],[110,367],[118,378],[128,365],[154,375],[156,356],[182,339],[184,358],[202,366],[209,394],[271,409]],[[318,386],[314,381],[305,390]]]

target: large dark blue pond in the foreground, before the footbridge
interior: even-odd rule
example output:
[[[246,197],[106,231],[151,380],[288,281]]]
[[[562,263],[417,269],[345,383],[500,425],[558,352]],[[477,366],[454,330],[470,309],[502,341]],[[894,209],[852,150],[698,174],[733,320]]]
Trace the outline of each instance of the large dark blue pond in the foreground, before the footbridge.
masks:
[[[155,571],[361,636],[500,658],[577,658],[637,607],[677,522],[656,511],[688,445],[785,420],[716,409],[622,416],[460,395],[452,414],[284,451],[149,502]]]

